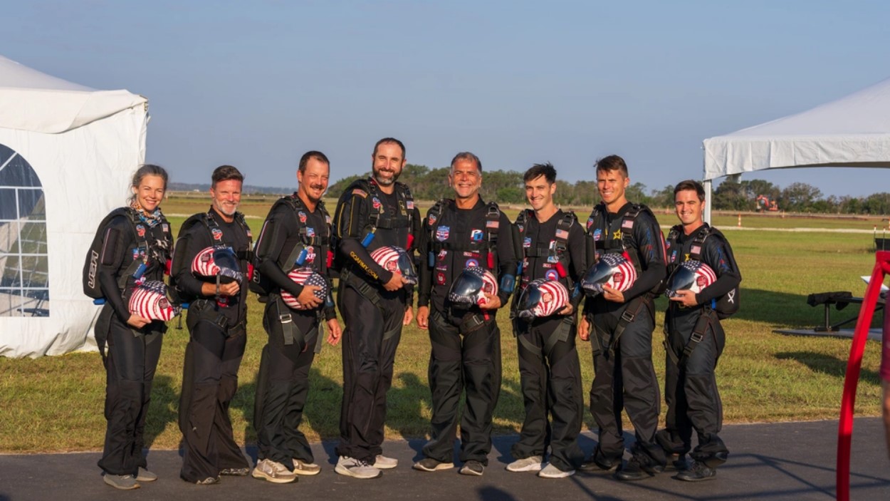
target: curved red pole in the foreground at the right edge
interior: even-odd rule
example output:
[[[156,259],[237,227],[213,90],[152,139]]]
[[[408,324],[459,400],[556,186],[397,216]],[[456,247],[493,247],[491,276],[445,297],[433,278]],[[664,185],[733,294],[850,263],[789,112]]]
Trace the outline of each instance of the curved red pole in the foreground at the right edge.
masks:
[[[837,501],[850,500],[850,440],[853,436],[853,407],[856,402],[856,385],[862,369],[862,353],[865,341],[869,337],[871,317],[884,283],[884,275],[890,270],[890,251],[878,251],[875,255],[875,267],[871,272],[869,286],[865,290],[859,319],[853,334],[850,347],[850,358],[846,362],[844,378],[844,395],[840,402],[840,423],[837,426]],[[885,312],[886,315],[886,312]]]

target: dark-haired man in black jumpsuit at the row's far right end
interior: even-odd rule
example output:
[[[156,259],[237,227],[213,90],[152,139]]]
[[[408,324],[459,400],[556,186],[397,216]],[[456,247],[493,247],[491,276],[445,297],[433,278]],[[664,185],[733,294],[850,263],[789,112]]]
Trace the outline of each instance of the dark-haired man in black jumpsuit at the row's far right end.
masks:
[[[697,294],[676,292],[665,315],[667,427],[659,431],[658,440],[667,454],[679,460],[690,451],[695,430],[699,437],[691,455],[695,461],[676,475],[688,481],[714,478],[716,466],[729,455],[717,436],[723,423],[723,406],[714,374],[726,336],[712,301],[724,294],[734,295],[741,281],[729,242],[701,218],[704,201],[705,190],[699,183],[683,181],[676,185],[674,206],[681,224],[674,226],[667,238],[668,272],[685,260],[700,258],[717,277]],[[706,234],[703,242],[696,238]],[[696,334],[693,339],[693,332],[702,335],[699,338]]]

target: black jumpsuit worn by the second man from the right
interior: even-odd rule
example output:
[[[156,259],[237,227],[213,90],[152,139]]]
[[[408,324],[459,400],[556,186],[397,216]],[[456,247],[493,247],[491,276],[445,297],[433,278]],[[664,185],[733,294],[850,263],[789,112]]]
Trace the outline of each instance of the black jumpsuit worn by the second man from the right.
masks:
[[[596,259],[603,252],[622,251],[621,225],[631,208],[628,202],[617,213],[610,213],[601,203],[587,219],[587,236],[595,248]],[[660,396],[652,365],[655,311],[651,290],[664,279],[666,268],[661,230],[649,210],[641,211],[635,218],[630,237],[627,253],[637,268],[637,279],[624,292],[625,302],[607,301],[602,294],[585,302],[595,369],[590,412],[599,427],[600,439],[595,458],[608,464],[620,461],[624,454],[623,408],[634,425],[634,457],[643,465],[663,466],[664,451],[655,442]],[[619,320],[632,307],[636,315],[615,342],[613,335]]]

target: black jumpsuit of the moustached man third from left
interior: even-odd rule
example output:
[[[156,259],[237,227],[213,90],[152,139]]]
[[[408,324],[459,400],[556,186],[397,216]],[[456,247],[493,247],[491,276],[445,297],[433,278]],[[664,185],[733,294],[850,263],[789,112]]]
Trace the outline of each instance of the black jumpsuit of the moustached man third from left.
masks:
[[[296,199],[296,194],[293,197]],[[256,241],[259,271],[273,283],[263,315],[263,328],[269,341],[263,348],[257,378],[256,456],[258,460],[271,459],[284,464],[290,471],[293,471],[292,459],[314,463],[312,448],[299,427],[309,394],[309,370],[316,347],[320,349],[322,329],[319,328],[319,308],[288,308],[280,299],[280,292],[286,290],[295,298],[303,292],[303,285],[288,278],[285,269],[289,272],[295,267],[312,267],[327,275],[330,226],[323,203],[314,211],[306,209],[302,201],[298,201],[296,207],[297,211],[287,202],[274,205]],[[302,265],[286,262],[295,248],[306,250]],[[320,308],[324,308],[323,305]],[[287,322],[282,324],[282,316],[285,320],[287,316],[291,318],[293,328],[288,327]],[[325,308],[324,317],[336,318],[333,305]]]

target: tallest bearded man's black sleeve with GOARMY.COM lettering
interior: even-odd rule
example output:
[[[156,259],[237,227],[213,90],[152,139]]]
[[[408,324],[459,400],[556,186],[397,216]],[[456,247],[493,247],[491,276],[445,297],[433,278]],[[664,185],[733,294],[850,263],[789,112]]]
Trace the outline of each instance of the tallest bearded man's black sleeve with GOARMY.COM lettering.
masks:
[[[352,193],[344,193],[344,197],[337,203],[334,232],[340,240],[338,251],[344,262],[358,265],[366,277],[379,283],[387,283],[392,280],[392,272],[376,264],[368,250],[361,245],[361,239],[365,236],[364,229],[368,223],[366,210],[363,210],[363,206],[367,205],[365,201],[368,193],[362,195],[356,191],[362,192],[359,188],[355,188]]]

